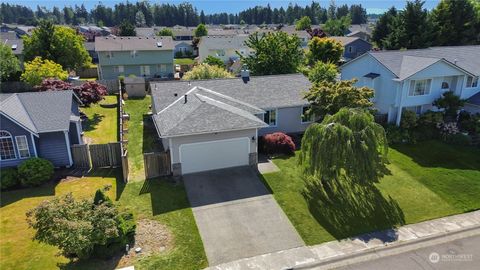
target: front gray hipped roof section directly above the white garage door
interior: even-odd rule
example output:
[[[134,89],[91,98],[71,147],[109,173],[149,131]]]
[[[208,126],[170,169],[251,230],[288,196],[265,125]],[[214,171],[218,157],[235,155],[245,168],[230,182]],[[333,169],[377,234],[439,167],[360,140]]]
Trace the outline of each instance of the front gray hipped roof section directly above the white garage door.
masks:
[[[201,93],[205,91],[195,87],[188,92],[187,102],[181,96],[153,116],[161,137],[267,126],[250,112]]]

